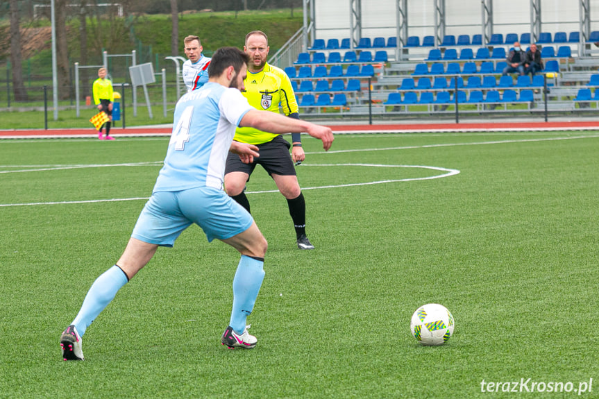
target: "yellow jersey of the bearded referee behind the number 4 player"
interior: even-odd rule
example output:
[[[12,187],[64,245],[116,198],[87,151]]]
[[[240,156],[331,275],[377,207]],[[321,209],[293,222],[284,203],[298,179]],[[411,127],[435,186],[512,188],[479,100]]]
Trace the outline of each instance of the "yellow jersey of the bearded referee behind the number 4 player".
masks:
[[[291,80],[280,68],[267,63],[262,71],[256,74],[248,71],[244,86],[246,90],[242,94],[248,99],[250,105],[257,110],[279,112],[280,107],[285,115],[298,112],[298,104]],[[267,143],[276,136],[255,128],[237,128],[235,130],[235,140],[248,144]]]

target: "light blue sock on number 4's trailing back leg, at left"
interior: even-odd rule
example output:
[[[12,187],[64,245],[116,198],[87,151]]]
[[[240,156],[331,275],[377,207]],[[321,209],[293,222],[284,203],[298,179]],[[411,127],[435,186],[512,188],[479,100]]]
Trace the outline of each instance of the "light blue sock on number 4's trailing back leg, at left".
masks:
[[[87,327],[92,324],[92,321],[108,306],[110,301],[115,298],[117,291],[128,282],[128,278],[124,271],[117,265],[112,266],[105,271],[99,278],[96,278],[90,291],[83,300],[83,305],[73,321],[77,332],[81,337],[85,334]]]

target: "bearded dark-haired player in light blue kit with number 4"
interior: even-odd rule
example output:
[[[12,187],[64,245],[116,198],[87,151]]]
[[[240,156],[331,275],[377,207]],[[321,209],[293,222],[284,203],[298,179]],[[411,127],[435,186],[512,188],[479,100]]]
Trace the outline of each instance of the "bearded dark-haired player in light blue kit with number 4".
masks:
[[[219,239],[241,253],[233,278],[233,309],[221,343],[230,348],[253,348],[258,339],[248,334],[251,314],[264,278],[267,241],[251,215],[223,192],[223,173],[229,151],[243,162],[260,156],[253,144],[234,142],[237,126],[285,134],[307,132],[330,148],[330,128],[260,111],[249,105],[244,88],[248,57],[234,47],[214,53],[210,80],[185,94],[175,108],[174,127],[164,167],[152,196],[142,210],[119,261],[94,281],[74,321],[62,332],[62,359],[83,360],[81,337],[115,298],[117,291],[153,257],[158,246],[171,247],[183,230],[199,225],[208,241]]]

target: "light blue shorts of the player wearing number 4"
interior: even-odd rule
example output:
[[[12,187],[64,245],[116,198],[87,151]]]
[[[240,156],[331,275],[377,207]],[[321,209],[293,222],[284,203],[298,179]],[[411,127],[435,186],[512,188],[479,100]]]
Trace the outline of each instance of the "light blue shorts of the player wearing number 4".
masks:
[[[212,187],[155,192],[137,219],[131,237],[172,247],[192,223],[200,226],[208,241],[212,241],[244,232],[252,225],[253,218],[225,192]]]

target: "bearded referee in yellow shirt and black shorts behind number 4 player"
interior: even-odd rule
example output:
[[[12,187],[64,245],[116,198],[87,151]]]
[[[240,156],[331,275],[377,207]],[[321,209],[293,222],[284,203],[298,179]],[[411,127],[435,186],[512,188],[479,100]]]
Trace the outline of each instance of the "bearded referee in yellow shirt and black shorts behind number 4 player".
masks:
[[[279,106],[288,117],[299,119],[298,105],[291,80],[282,69],[267,63],[269,42],[262,31],[252,31],[246,35],[244,51],[250,58],[248,74],[244,80],[242,94],[250,105],[258,110],[279,112]],[[289,155],[289,142],[278,135],[255,128],[237,128],[235,141],[255,144],[260,148],[260,157],[251,164],[244,164],[239,155],[229,153],[225,169],[224,186],[226,192],[248,212],[250,203],[244,193],[246,182],[257,164],[273,178],[280,193],[287,198],[296,230],[299,249],[314,249],[305,234],[305,201],[299,187],[294,162],[305,160],[299,133],[292,134],[292,153]]]

